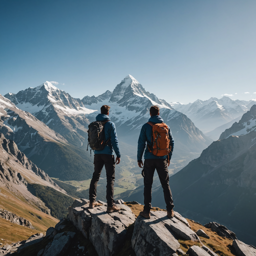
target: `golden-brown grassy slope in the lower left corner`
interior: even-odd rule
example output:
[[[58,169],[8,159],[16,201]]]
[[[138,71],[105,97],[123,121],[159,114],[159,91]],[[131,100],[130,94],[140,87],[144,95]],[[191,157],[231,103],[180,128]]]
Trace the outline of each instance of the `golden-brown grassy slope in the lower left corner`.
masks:
[[[32,234],[45,232],[48,227],[55,226],[59,221],[58,219],[40,211],[33,204],[28,203],[24,197],[18,197],[6,188],[0,188],[0,197],[0,208],[6,209],[20,217],[28,219],[35,227],[35,229],[30,229],[0,218],[0,238],[4,239],[1,240],[3,244],[25,240]],[[41,219],[37,216],[41,217]]]

